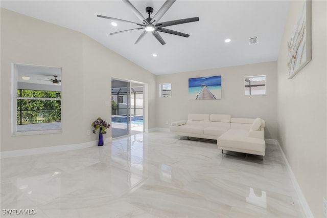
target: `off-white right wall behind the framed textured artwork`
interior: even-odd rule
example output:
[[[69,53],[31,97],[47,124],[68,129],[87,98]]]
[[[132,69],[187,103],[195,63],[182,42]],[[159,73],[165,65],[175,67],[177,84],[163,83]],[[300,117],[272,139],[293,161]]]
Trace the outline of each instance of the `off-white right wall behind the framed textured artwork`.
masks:
[[[287,79],[287,41],[302,5],[291,1],[278,56],[278,139],[314,217],[322,217],[322,197],[327,197],[327,10],[326,1],[312,1],[312,60]]]

